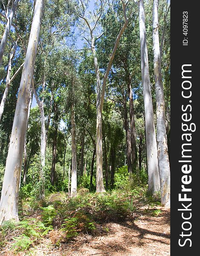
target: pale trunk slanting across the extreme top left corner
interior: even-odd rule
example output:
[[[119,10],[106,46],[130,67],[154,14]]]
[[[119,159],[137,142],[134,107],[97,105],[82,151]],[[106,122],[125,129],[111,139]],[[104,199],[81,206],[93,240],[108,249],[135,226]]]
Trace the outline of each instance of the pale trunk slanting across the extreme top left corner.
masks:
[[[15,11],[16,11],[16,8],[17,8],[17,4],[18,4],[18,0],[12,0],[12,7],[11,7],[10,16],[6,17],[7,18],[7,24],[6,24],[6,28],[4,30],[3,37],[1,39],[1,44],[0,44],[0,66],[2,64],[3,52],[4,52],[6,42],[7,42],[8,36],[9,36],[10,27],[11,27],[11,24],[12,24],[12,20],[14,18],[14,14],[15,14]]]

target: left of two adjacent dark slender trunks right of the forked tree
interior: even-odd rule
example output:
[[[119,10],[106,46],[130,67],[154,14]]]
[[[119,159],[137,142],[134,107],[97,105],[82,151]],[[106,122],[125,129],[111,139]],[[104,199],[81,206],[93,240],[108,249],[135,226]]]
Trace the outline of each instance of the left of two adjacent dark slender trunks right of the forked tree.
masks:
[[[126,109],[126,97],[124,97],[124,128],[126,131],[126,159],[128,172],[132,173],[132,163],[131,163],[131,133],[129,129],[128,113]]]

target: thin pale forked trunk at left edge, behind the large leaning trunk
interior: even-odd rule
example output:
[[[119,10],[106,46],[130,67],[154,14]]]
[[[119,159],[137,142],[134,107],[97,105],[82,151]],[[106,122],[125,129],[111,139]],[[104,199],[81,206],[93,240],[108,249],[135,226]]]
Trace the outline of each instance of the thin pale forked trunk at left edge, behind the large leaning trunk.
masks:
[[[1,100],[1,104],[0,104],[0,121],[1,121],[1,118],[3,116],[3,111],[4,111],[5,104],[6,104],[6,99],[7,99],[8,93],[9,93],[9,89],[10,89],[10,84],[15,79],[17,74],[20,72],[20,70],[22,69],[23,64],[24,64],[24,63],[21,64],[21,66],[18,68],[18,70],[12,76],[12,78],[10,78],[10,75],[11,75],[11,61],[12,61],[12,58],[14,57],[14,53],[16,51],[16,48],[17,48],[17,42],[15,42],[13,51],[11,52],[11,55],[10,55],[10,58],[9,58],[9,63],[8,63],[8,68],[7,68],[7,76],[6,76],[6,88],[4,90],[3,97],[2,97],[2,100]]]

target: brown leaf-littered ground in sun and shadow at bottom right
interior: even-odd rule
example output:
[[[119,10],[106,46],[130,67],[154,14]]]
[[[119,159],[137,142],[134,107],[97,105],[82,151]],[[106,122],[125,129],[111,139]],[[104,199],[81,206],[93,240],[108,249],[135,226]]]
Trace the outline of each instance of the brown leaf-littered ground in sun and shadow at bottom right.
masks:
[[[80,234],[59,247],[53,245],[59,236],[53,230],[31,252],[17,256],[169,256],[170,209],[140,205],[133,217],[131,221],[99,225],[92,236]],[[14,256],[9,245],[0,255]]]

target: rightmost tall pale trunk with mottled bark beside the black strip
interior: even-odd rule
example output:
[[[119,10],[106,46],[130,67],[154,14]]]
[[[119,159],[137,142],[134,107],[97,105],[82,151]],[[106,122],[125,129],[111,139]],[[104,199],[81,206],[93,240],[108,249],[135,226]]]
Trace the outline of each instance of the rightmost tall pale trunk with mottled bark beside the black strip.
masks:
[[[158,33],[158,0],[153,4],[153,51],[154,79],[157,105],[157,157],[160,175],[161,205],[170,204],[170,167],[167,147],[164,91],[161,73],[160,45]]]

